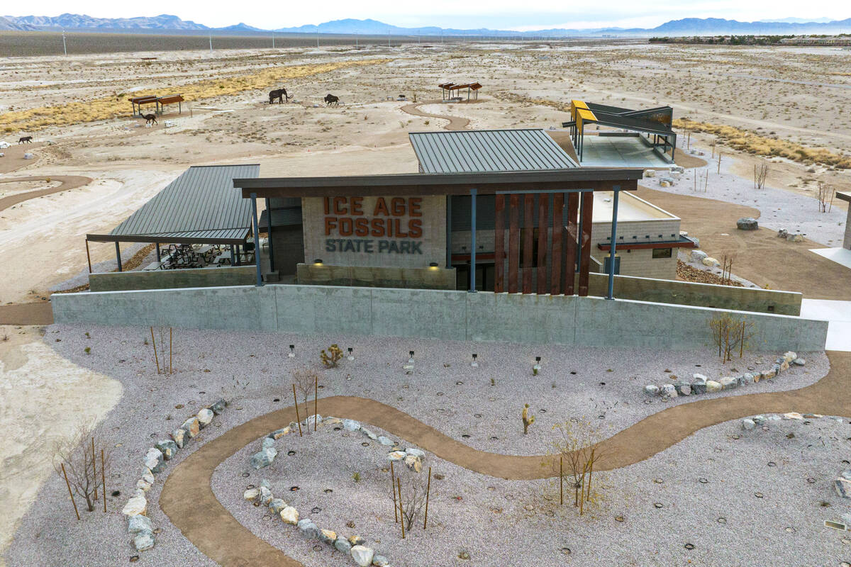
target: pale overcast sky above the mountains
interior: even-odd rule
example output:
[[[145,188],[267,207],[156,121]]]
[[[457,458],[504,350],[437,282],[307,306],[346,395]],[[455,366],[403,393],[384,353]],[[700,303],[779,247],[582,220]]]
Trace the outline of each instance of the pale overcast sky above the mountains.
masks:
[[[65,12],[100,18],[151,16],[158,12],[150,3],[125,3],[107,0],[42,0],[7,3],[3,14],[48,15]],[[388,0],[323,0],[313,2],[210,2],[181,0],[162,4],[162,10],[204,26],[221,27],[244,22],[249,26],[276,29],[304,24],[319,24],[344,18],[380,20],[404,27],[440,26],[455,28],[488,27],[500,30],[536,30],[545,28],[654,27],[680,18],[726,18],[728,20],[775,20],[787,17],[842,20],[851,16],[851,8],[842,0],[607,0],[605,3],[568,3],[564,0],[426,0],[392,2]]]

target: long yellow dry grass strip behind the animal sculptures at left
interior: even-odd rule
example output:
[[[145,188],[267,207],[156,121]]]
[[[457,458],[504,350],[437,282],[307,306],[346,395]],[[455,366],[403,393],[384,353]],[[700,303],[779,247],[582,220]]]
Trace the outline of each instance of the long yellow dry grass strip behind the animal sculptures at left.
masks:
[[[180,86],[180,88],[168,87],[168,91],[176,90],[183,94],[184,99],[189,101],[210,99],[216,96],[268,88],[272,85],[279,85],[287,79],[309,77],[348,67],[379,65],[388,61],[390,60],[340,61],[316,65],[294,65],[283,69],[281,67],[269,67],[244,76],[204,79],[203,81],[190,82]],[[146,96],[146,94],[153,93],[139,92],[136,93],[136,96]],[[3,128],[5,132],[25,130],[34,132],[50,126],[68,126],[80,122],[108,120],[118,116],[127,116],[128,104],[125,97],[109,96],[92,100],[75,100],[65,105],[43,106],[26,111],[10,111],[0,116],[0,128]]]

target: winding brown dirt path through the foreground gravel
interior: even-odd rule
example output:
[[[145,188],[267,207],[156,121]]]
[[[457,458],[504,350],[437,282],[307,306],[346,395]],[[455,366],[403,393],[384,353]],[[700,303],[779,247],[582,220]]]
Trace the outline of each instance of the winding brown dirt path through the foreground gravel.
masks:
[[[831,370],[819,382],[786,392],[747,394],[675,405],[603,441],[603,470],[643,461],[701,428],[757,413],[800,411],[851,415],[851,353],[830,352]],[[389,405],[364,398],[323,399],[324,415],[348,417],[385,429],[400,439],[477,473],[505,479],[555,476],[541,465],[547,456],[497,455],[472,449]],[[225,567],[303,567],[237,522],[210,488],[214,469],[243,446],[294,421],[293,407],[256,417],[208,441],[168,475],[159,505],[192,544]]]

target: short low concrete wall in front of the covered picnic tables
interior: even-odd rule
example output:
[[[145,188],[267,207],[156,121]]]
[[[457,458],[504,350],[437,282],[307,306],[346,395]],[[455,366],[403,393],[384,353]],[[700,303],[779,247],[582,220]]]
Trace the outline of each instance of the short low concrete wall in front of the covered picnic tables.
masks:
[[[205,269],[151,269],[89,274],[93,292],[174,287],[250,286],[257,281],[257,267],[230,266]]]

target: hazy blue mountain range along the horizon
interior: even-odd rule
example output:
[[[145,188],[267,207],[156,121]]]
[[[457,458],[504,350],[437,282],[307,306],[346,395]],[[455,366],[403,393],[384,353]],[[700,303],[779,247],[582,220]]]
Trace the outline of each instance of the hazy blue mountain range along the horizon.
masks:
[[[827,21],[825,21],[827,20]],[[595,29],[545,29],[535,31],[505,31],[486,28],[474,30],[459,30],[426,27],[399,27],[385,24],[377,20],[333,20],[319,25],[284,27],[277,30],[262,30],[247,24],[211,28],[191,20],[181,20],[179,17],[160,14],[151,17],[135,18],[94,18],[82,14],[61,14],[59,16],[4,16],[0,17],[0,30],[17,31],[49,31],[49,30],[78,30],[78,31],[224,31],[269,33],[328,33],[328,34],[360,34],[394,36],[490,36],[490,37],[650,37],[650,36],[716,36],[716,35],[804,35],[804,34],[837,34],[851,32],[851,18],[846,20],[828,20],[818,18],[806,21],[799,18],[782,20],[764,20],[743,22],[723,20],[719,18],[685,18],[683,20],[667,21],[654,28],[620,28],[605,27]]]

